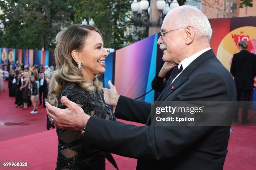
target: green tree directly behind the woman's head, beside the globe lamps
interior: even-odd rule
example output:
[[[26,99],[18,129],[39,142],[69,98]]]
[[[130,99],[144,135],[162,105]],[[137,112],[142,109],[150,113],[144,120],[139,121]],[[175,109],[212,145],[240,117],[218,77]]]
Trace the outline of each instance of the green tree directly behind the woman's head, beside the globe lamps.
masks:
[[[73,5],[75,23],[82,23],[86,18],[92,18],[95,26],[102,31],[106,47],[119,49],[124,46],[124,42],[135,42],[133,36],[125,36],[125,31],[131,27],[142,26],[131,20],[131,0],[70,0]],[[146,32],[146,31],[145,31]],[[146,37],[143,32],[135,34]]]

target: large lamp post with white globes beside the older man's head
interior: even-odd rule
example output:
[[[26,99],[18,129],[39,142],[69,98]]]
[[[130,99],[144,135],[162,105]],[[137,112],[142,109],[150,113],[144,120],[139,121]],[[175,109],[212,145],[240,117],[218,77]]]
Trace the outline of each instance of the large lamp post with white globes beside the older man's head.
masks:
[[[165,15],[169,10],[178,6],[177,0],[151,0],[150,7],[148,0],[141,0],[140,2],[134,0],[131,4],[131,10],[133,11],[134,20],[149,27],[148,35],[150,36],[160,31]],[[143,15],[141,15],[140,9]]]

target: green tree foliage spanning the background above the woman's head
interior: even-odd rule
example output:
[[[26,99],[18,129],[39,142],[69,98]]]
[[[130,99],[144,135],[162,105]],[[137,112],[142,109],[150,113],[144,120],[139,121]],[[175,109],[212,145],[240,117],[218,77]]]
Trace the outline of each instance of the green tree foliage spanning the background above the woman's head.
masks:
[[[150,1],[150,0],[148,0]],[[169,0],[168,2],[171,2]],[[5,28],[1,47],[53,50],[61,28],[95,21],[105,47],[119,49],[148,36],[148,28],[133,20],[133,0],[1,0]],[[178,0],[184,5],[186,0]],[[239,7],[252,7],[253,0],[240,0]],[[140,17],[147,15],[143,13]],[[130,30],[131,34],[127,34]]]

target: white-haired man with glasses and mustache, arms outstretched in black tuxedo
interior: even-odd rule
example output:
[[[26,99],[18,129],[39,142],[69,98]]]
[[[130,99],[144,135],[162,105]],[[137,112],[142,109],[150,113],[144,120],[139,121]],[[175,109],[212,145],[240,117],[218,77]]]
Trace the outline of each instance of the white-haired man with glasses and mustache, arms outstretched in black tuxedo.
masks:
[[[206,16],[194,7],[184,5],[166,15],[158,44],[163,60],[178,66],[159,101],[236,100],[233,78],[210,48],[211,35]],[[59,128],[82,130],[84,145],[138,159],[138,170],[223,169],[230,126],[155,126],[150,103],[120,96],[109,85],[104,98],[116,106],[116,117],[145,126],[90,117],[67,97],[61,98],[67,109],[47,103],[49,118]]]

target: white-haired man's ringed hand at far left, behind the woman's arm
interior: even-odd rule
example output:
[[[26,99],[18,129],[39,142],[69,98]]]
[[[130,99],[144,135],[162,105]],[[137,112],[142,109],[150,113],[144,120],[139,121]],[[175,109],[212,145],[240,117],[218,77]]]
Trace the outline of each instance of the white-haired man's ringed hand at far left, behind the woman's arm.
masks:
[[[60,129],[82,130],[90,116],[66,96],[61,97],[61,103],[67,106],[67,109],[60,109],[45,102],[49,120],[54,119],[53,123]]]

